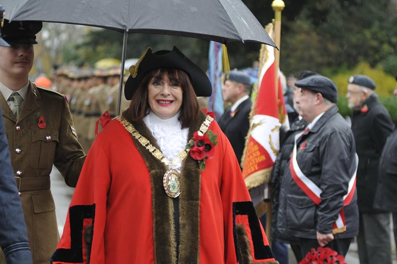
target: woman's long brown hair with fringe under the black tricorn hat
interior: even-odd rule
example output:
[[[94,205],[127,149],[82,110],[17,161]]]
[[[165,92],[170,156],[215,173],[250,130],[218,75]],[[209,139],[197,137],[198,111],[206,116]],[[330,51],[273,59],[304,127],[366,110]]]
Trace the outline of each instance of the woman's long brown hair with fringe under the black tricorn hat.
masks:
[[[182,128],[188,128],[199,115],[199,102],[186,72],[176,68],[157,68],[143,77],[128,108],[128,118],[132,122],[140,122],[150,112],[148,103],[148,86],[152,78],[163,78],[167,75],[171,82],[178,83],[182,88],[182,106],[179,121]]]

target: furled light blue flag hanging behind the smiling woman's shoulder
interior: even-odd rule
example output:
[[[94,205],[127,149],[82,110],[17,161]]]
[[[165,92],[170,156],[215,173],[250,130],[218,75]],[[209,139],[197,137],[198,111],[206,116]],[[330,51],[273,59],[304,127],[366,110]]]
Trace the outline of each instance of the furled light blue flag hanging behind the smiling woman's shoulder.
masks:
[[[208,78],[212,85],[212,94],[208,100],[208,110],[214,112],[215,120],[219,120],[224,112],[222,97],[222,54],[221,43],[210,41],[208,51]]]

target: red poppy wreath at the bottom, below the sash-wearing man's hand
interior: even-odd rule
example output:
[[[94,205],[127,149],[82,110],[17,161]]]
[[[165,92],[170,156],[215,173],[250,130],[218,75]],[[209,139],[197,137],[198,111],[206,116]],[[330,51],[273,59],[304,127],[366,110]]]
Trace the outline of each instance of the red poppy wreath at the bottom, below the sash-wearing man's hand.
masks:
[[[299,264],[346,264],[344,257],[329,247],[312,248]]]

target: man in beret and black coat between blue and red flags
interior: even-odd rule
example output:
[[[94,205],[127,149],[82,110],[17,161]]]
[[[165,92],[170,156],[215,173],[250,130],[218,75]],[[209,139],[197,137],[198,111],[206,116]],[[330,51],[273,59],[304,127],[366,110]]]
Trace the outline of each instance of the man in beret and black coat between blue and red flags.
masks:
[[[218,123],[232,144],[239,163],[250,128],[251,88],[251,78],[247,73],[237,70],[226,73],[222,88],[223,101],[232,105],[226,108]]]

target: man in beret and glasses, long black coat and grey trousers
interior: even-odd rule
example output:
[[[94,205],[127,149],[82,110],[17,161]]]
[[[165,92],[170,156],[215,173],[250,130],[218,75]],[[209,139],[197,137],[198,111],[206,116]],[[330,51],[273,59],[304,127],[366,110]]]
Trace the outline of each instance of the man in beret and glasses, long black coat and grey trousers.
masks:
[[[360,160],[357,170],[360,211],[357,246],[361,264],[391,264],[390,212],[375,209],[374,199],[379,182],[379,159],[394,125],[388,110],[379,103],[375,88],[375,82],[366,75],[356,74],[348,79],[346,97],[348,106],[353,109],[351,129]]]

